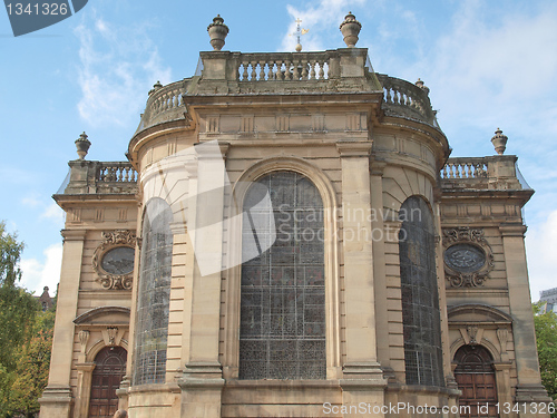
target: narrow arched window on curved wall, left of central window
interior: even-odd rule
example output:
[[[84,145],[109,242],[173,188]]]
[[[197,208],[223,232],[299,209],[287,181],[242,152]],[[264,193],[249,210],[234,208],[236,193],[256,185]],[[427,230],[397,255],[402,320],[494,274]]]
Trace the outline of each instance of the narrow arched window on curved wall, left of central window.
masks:
[[[163,383],[166,372],[173,213],[162,198],[146,205],[137,292],[134,385]]]

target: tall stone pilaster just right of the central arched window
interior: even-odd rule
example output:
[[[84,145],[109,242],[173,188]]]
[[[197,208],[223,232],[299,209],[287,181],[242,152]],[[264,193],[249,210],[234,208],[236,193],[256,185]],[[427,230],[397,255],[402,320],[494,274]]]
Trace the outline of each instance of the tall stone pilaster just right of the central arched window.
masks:
[[[371,142],[338,143],[342,166],[342,237],[344,253],[346,361],[344,406],[383,405],[384,387],[378,362],[373,276],[370,153]],[[359,415],[354,415],[358,417]]]

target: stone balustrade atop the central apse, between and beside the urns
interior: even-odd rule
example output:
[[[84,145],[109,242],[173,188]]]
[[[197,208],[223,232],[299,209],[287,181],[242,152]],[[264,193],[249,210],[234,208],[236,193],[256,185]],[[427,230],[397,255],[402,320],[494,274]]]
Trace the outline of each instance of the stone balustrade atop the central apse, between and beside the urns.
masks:
[[[428,89],[371,71],[368,50],[319,52],[201,52],[197,77],[156,85],[149,93],[138,132],[183,119],[188,97],[211,95],[328,94],[383,91],[387,116],[424,121],[439,128]],[[187,117],[187,115],[186,115]]]

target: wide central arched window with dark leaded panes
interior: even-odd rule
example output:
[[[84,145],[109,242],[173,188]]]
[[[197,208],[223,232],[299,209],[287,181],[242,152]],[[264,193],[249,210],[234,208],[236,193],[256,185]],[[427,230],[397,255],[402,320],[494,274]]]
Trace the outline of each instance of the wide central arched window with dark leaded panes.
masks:
[[[242,265],[240,378],[324,379],[321,195],[310,179],[294,172],[274,172],[257,183],[267,187],[271,195],[276,241],[270,250]],[[244,200],[247,216],[243,236],[262,237],[272,232],[266,232],[262,222],[250,221],[254,215],[260,221],[264,218],[253,213],[261,200],[257,191],[261,187],[252,187]],[[243,240],[243,255],[253,251],[248,241]]]

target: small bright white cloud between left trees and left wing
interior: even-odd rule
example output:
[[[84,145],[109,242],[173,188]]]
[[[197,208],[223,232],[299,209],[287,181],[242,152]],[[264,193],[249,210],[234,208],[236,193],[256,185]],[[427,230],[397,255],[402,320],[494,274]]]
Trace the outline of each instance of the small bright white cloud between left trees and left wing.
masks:
[[[45,261],[37,259],[21,260],[21,285],[35,294],[40,295],[42,289],[48,286],[50,295],[53,297],[56,286],[60,281],[62,263],[62,244],[53,244],[43,251]]]

